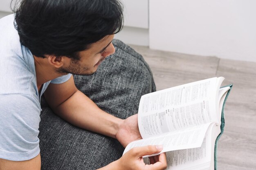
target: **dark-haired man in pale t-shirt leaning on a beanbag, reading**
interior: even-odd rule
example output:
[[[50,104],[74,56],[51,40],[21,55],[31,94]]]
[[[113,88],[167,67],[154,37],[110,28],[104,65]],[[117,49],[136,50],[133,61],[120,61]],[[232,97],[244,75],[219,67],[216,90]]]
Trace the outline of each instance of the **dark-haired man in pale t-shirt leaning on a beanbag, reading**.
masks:
[[[117,139],[140,139],[137,115],[122,120],[80,92],[72,74],[91,75],[115,52],[122,28],[117,0],[23,0],[0,20],[0,169],[40,169],[40,100],[71,124]],[[13,25],[14,22],[14,25]],[[65,141],[62,141],[65,143]],[[161,146],[133,149],[102,169],[164,169],[164,154],[145,165],[143,155]]]

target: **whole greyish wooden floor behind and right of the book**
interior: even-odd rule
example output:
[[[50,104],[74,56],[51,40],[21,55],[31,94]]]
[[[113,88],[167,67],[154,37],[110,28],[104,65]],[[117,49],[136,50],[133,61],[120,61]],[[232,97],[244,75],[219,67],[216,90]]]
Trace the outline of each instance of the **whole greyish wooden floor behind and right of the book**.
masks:
[[[256,170],[256,63],[150,50],[131,45],[153,72],[157,90],[223,76],[233,83],[218,143],[219,170]]]

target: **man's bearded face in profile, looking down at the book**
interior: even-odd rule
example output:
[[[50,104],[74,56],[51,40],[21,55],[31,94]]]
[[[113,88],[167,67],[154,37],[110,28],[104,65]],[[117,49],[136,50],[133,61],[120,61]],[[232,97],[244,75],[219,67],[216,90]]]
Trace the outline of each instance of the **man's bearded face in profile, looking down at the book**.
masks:
[[[101,61],[115,53],[115,48],[112,44],[113,38],[114,35],[107,35],[100,41],[93,43],[89,49],[79,52],[80,60],[67,58],[67,62],[57,72],[79,75],[93,74]]]

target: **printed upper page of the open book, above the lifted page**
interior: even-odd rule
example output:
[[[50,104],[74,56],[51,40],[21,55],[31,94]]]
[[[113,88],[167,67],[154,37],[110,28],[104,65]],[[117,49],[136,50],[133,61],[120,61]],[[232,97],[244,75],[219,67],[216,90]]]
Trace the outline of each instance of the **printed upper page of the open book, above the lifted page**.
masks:
[[[215,77],[142,96],[138,111],[142,138],[217,122],[216,84]]]

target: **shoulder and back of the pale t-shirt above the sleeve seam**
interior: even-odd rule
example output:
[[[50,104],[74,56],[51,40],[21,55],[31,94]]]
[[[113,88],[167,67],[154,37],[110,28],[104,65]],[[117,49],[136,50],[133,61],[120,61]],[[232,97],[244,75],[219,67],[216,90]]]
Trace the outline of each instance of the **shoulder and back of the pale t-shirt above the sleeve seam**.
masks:
[[[13,22],[13,14],[0,19],[0,94],[36,97],[34,58],[20,44]]]

